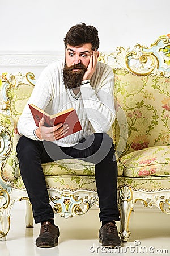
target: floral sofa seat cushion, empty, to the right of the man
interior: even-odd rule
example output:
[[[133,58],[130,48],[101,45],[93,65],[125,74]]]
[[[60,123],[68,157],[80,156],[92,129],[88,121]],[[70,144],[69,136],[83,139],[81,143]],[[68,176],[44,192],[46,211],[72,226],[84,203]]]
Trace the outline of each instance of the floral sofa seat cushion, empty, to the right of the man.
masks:
[[[170,146],[155,146],[131,152],[120,158],[123,176],[170,175]]]

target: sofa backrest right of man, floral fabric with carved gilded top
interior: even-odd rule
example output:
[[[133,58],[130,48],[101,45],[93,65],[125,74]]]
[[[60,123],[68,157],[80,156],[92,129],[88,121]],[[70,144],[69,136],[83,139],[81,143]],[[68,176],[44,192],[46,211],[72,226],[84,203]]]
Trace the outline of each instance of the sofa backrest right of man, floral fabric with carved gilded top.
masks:
[[[170,143],[170,38],[161,36],[151,48],[137,44],[101,53],[113,68],[117,157]]]

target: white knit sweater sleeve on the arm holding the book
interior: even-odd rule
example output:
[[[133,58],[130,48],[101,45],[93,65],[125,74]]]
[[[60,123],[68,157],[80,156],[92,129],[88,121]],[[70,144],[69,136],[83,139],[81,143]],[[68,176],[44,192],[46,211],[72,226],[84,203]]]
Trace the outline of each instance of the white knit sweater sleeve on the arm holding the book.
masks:
[[[25,135],[26,137],[37,140],[35,130],[37,126],[32,117],[31,110],[29,109],[28,104],[33,103],[37,107],[45,110],[52,97],[52,85],[49,77],[46,74],[46,69],[42,71],[39,79],[37,79],[35,88],[32,91],[31,97],[29,98],[22,115],[20,115],[18,120],[18,131],[20,135]]]

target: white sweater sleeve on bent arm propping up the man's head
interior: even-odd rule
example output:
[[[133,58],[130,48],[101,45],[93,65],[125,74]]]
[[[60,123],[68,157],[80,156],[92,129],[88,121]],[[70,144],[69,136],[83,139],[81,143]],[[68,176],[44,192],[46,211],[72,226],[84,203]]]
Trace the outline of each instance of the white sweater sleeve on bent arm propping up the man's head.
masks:
[[[100,71],[101,72],[101,71]],[[84,82],[80,86],[84,110],[96,132],[107,132],[115,119],[114,108],[114,74],[111,68],[97,79],[94,88],[91,82]]]

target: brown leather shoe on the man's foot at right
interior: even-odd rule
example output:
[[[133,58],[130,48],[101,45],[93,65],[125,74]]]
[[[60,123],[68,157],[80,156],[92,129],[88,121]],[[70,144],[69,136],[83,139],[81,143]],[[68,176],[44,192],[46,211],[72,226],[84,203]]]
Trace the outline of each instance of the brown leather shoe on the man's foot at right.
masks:
[[[108,222],[99,229],[99,242],[104,247],[116,247],[121,245],[121,239],[118,236],[117,226]]]

